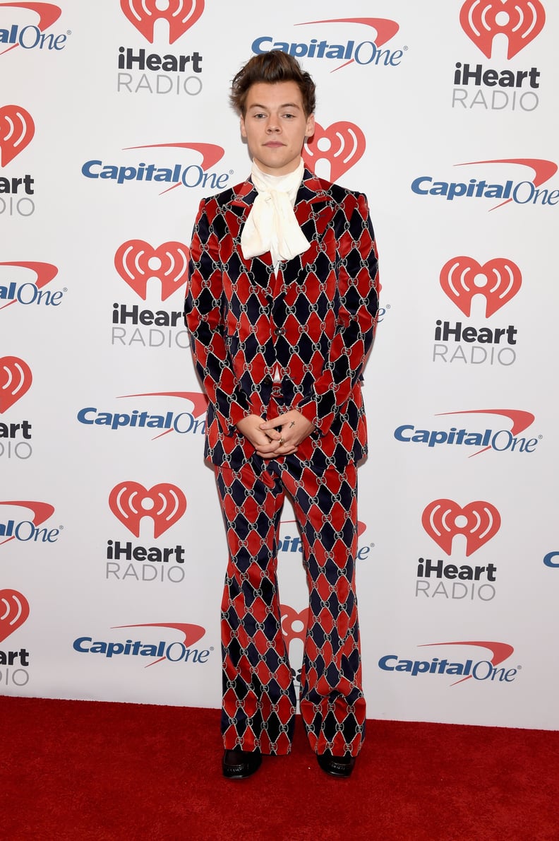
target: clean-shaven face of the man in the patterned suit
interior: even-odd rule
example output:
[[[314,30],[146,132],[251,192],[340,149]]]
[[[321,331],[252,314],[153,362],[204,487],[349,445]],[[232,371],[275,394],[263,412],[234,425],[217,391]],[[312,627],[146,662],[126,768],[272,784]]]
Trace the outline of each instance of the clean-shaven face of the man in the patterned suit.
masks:
[[[262,172],[287,175],[300,161],[306,137],[315,130],[314,115],[306,117],[295,82],[257,82],[248,88],[241,134]]]

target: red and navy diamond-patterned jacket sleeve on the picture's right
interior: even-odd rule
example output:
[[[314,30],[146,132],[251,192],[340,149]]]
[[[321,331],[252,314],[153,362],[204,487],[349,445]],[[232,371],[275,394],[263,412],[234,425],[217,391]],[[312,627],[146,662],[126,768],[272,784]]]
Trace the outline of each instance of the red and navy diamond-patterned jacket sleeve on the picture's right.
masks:
[[[355,197],[355,194],[353,194]],[[321,435],[330,429],[358,382],[371,349],[379,309],[378,256],[367,198],[357,194],[337,242],[337,292],[340,296],[336,333],[312,394],[301,395],[294,408],[315,424]]]

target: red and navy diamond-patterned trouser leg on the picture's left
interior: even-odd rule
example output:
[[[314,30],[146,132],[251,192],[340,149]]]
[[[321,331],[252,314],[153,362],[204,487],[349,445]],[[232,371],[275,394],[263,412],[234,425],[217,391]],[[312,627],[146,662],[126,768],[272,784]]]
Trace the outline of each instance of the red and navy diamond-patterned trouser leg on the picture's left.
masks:
[[[216,468],[216,479],[229,550],[222,600],[223,743],[288,754],[296,701],[277,582],[284,489],[251,463]]]

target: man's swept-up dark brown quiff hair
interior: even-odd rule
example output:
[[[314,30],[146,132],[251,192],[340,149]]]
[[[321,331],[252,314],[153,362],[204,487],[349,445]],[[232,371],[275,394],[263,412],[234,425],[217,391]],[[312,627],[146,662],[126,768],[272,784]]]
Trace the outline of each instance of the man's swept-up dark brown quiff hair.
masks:
[[[301,70],[299,62],[282,50],[270,50],[260,56],[253,56],[242,67],[231,83],[231,103],[233,108],[246,114],[247,96],[250,87],[259,82],[273,85],[275,82],[295,82],[303,100],[306,117],[314,114],[316,107],[315,83],[311,75]]]

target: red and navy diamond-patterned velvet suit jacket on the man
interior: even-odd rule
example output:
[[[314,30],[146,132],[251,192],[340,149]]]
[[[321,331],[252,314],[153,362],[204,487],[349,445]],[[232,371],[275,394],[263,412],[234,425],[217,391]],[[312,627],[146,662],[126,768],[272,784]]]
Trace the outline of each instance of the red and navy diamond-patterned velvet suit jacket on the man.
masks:
[[[254,455],[235,424],[266,418],[279,367],[285,410],[316,426],[297,458],[342,468],[367,454],[361,382],[378,309],[367,199],[305,170],[294,211],[311,247],[274,272],[269,252],[241,250],[256,196],[246,181],[203,199],[194,225],[185,320],[209,399],[205,455],[232,466]]]

